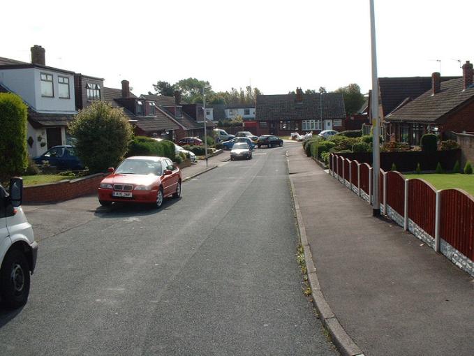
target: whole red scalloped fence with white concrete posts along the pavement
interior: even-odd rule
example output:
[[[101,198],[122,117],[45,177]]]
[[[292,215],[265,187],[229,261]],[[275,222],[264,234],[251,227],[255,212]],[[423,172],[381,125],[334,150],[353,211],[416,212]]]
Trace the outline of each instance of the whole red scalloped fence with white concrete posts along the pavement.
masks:
[[[373,203],[372,168],[331,154],[329,174]],[[386,216],[474,276],[474,198],[460,189],[437,191],[423,179],[379,172],[380,208]]]

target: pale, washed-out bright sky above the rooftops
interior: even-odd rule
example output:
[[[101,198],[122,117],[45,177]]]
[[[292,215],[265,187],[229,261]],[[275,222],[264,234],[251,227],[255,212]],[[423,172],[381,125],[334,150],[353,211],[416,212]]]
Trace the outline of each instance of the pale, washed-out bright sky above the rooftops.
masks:
[[[474,62],[473,0],[374,0],[378,77],[461,75]],[[158,80],[263,94],[371,89],[369,0],[3,1],[0,57],[105,78],[135,95]],[[7,30],[6,30],[7,29]],[[8,31],[8,34],[6,34]]]

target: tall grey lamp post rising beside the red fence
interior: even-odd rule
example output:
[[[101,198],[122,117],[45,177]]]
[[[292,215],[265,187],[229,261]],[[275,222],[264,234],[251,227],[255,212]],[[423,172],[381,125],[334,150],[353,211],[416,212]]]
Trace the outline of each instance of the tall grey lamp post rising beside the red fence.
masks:
[[[377,48],[376,48],[376,20],[373,0],[370,1],[370,32],[371,32],[371,54],[372,54],[372,186],[373,186],[373,216],[380,215],[380,197],[378,178],[380,175],[380,119],[378,117],[378,77],[377,77]]]

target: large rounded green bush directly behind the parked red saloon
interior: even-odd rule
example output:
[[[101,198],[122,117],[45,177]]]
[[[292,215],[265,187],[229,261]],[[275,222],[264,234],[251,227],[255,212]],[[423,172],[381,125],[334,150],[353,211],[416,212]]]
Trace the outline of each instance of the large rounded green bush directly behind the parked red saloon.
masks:
[[[77,156],[92,173],[115,167],[125,156],[133,130],[124,111],[94,101],[69,124],[76,138]]]

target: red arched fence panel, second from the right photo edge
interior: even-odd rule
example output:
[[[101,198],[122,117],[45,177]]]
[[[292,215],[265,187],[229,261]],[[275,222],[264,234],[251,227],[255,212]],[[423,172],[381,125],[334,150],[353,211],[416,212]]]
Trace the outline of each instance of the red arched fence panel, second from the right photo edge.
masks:
[[[427,181],[408,180],[408,218],[434,237],[436,188]]]

